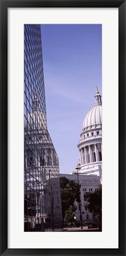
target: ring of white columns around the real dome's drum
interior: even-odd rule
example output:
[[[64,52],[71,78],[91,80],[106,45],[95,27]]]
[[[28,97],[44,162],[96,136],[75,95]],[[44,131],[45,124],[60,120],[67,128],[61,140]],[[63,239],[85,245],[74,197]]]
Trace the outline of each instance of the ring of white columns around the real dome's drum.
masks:
[[[79,149],[81,165],[102,161],[102,144],[90,144]]]

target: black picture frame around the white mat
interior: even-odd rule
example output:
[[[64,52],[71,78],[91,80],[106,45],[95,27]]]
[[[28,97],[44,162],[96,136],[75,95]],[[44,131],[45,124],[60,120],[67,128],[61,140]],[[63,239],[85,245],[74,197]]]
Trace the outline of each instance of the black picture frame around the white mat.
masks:
[[[1,92],[0,92],[0,252],[1,255],[126,255],[125,245],[125,46],[126,3],[124,0],[12,1],[1,0]],[[118,8],[119,13],[119,248],[118,249],[8,249],[8,8],[88,7]],[[118,223],[118,220],[117,220]],[[115,223],[115,225],[118,225]],[[109,232],[109,227],[108,227]],[[74,241],[75,242],[75,241]]]

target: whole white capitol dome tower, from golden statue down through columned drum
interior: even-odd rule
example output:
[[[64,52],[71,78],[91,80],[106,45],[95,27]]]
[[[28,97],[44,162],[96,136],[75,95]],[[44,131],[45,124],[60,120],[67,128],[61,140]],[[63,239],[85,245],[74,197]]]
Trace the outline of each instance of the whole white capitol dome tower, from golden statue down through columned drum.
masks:
[[[96,86],[95,104],[84,118],[78,142],[80,170],[85,175],[102,175],[102,102]]]

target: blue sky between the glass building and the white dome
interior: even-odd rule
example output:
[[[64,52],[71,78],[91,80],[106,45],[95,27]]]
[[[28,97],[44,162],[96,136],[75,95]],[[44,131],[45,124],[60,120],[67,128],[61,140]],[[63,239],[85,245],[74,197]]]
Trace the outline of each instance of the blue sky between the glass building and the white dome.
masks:
[[[82,123],[102,93],[101,25],[41,25],[48,131],[60,173],[75,170]]]

